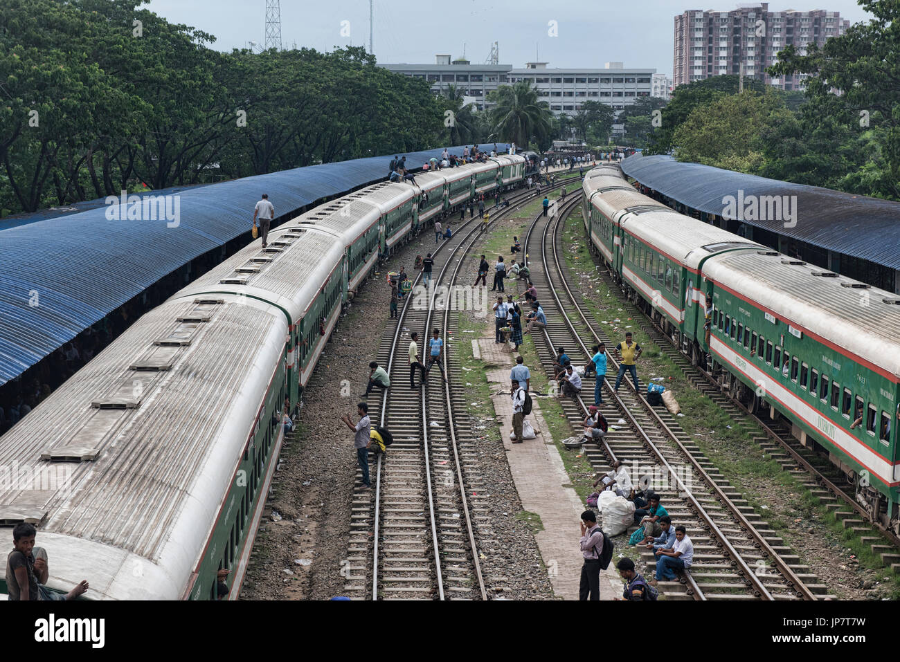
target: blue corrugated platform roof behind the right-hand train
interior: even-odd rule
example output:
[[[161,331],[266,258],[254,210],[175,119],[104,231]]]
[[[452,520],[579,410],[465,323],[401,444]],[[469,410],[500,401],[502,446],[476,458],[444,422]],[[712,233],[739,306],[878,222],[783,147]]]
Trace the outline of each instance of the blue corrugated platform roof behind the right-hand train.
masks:
[[[669,156],[628,157],[622,162],[622,170],[654,191],[717,216],[725,215],[730,202],[727,196],[734,197],[734,209],[743,210],[762,196],[797,196],[796,207],[793,201],[790,205],[796,215],[787,225],[785,218],[742,220],[835,253],[900,269],[900,202],[680,163]],[[768,203],[766,206],[769,208]]]

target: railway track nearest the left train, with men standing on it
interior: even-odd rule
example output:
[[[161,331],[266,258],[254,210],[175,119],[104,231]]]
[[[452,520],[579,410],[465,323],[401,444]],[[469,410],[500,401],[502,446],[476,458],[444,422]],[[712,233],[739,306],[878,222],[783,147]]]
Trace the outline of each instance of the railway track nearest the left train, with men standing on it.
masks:
[[[509,207],[492,218],[501,219],[534,200],[533,192],[510,196]],[[483,494],[483,489],[472,432],[458,425],[468,417],[455,416],[464,411],[466,399],[454,347],[457,329],[450,306],[435,296],[455,283],[462,255],[479,238],[480,224],[481,219],[469,219],[454,237],[436,245],[431,291],[403,303],[378,348],[377,361],[391,378],[390,398],[388,393],[369,398],[368,413],[391,430],[393,443],[377,455],[370,470],[371,492],[360,489],[357,471],[346,571],[342,569],[345,590],[357,599],[487,598],[475,527],[481,536],[491,535],[489,510],[484,497],[469,496]],[[419,273],[413,293],[421,291],[421,279]],[[410,389],[410,333],[419,333],[424,359],[433,328],[445,341],[449,380],[441,380],[436,365],[424,388]]]

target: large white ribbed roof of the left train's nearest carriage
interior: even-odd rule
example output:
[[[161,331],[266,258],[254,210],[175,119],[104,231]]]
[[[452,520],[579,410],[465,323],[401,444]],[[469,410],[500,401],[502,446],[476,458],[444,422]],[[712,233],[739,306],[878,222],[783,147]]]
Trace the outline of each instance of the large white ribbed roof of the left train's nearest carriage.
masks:
[[[15,482],[0,492],[7,513],[46,514],[38,540],[49,552],[51,586],[68,590],[87,579],[94,597],[179,596],[286,334],[284,314],[262,302],[168,300],[0,437],[0,465],[71,471],[68,485]],[[173,337],[190,344],[154,344]],[[169,370],[130,370],[153,362]],[[131,408],[92,406],[113,402]],[[96,450],[94,461],[41,460],[43,452],[88,449]]]

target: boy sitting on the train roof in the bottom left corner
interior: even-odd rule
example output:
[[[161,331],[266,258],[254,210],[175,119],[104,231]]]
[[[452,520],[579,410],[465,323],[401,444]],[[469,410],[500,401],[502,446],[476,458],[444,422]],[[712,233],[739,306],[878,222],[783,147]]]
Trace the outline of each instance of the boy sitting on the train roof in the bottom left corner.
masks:
[[[9,599],[31,602],[75,600],[89,587],[85,579],[66,595],[50,591],[43,586],[49,577],[49,568],[47,552],[34,546],[37,533],[34,525],[27,522],[18,523],[13,528],[13,551],[6,557],[6,591]]]

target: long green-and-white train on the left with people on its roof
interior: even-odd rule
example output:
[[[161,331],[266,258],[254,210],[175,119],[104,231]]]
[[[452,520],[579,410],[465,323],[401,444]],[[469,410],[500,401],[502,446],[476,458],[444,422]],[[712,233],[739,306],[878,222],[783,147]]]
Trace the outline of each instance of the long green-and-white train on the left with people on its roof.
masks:
[[[274,228],[135,321],[0,437],[0,525],[29,522],[51,590],[238,595],[293,411],[380,258],[479,193],[523,183],[518,155],[375,183]],[[0,577],[0,594],[7,588]]]

